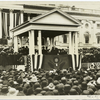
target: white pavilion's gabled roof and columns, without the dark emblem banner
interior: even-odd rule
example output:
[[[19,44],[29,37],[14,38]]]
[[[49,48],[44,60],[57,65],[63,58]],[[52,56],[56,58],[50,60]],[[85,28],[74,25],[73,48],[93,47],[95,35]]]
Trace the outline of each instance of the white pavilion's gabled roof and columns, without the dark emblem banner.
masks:
[[[69,54],[77,55],[78,65],[78,41],[77,34],[79,31],[80,22],[70,15],[62,12],[59,9],[51,10],[50,12],[31,19],[11,30],[14,34],[14,51],[18,52],[18,36],[24,35],[26,32],[29,36],[29,55],[35,54],[35,35],[38,34],[38,54],[42,54],[42,37],[50,37],[51,47],[54,43],[54,37],[63,34],[69,34]],[[35,33],[35,31],[37,32]],[[46,43],[45,43],[46,44]],[[67,48],[67,47],[66,47]],[[73,56],[74,57],[74,56]],[[74,58],[73,58],[74,59]],[[32,62],[33,63],[33,62]],[[32,64],[31,63],[31,64]],[[33,66],[31,65],[33,71]],[[73,69],[75,70],[75,62],[73,60]]]

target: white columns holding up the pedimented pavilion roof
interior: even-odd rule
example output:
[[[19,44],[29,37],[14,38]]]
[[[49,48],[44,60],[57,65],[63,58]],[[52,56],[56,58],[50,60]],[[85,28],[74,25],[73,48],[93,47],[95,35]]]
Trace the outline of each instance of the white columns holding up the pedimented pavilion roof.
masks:
[[[35,54],[35,36],[34,30],[29,31],[29,54]],[[75,38],[74,38],[75,36]],[[18,51],[18,36],[14,37],[15,52]],[[51,47],[53,46],[54,38],[51,38]],[[74,43],[75,42],[75,43]],[[38,31],[38,49],[39,54],[42,54],[42,34],[41,31]],[[69,54],[78,54],[78,41],[77,41],[77,32],[69,32]]]

